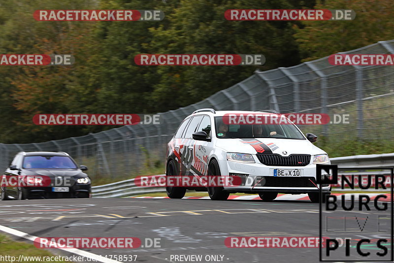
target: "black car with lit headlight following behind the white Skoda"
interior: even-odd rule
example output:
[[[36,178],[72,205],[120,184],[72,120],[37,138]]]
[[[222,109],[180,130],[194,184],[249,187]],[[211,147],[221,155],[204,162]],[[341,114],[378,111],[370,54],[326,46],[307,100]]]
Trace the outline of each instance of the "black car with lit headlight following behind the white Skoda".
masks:
[[[66,152],[21,151],[1,177],[1,200],[89,198],[88,168]]]

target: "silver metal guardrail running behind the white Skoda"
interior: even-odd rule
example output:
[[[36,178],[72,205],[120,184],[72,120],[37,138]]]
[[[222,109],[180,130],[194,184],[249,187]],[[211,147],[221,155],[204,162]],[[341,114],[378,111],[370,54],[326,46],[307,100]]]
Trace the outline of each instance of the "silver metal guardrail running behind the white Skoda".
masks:
[[[341,167],[359,167],[359,168],[394,167],[394,153],[353,155],[353,156],[330,158],[330,160],[331,160],[331,164],[337,164],[339,168]],[[374,174],[376,174],[376,172],[374,172]],[[156,175],[156,176],[163,176],[163,175]],[[341,190],[341,189],[336,189],[336,190]],[[92,187],[92,192],[93,192],[93,197],[126,197],[126,196],[133,196],[139,194],[147,194],[152,192],[165,192],[165,188],[164,187],[138,187],[135,185],[134,179],[130,179],[130,180],[124,180],[112,184]]]

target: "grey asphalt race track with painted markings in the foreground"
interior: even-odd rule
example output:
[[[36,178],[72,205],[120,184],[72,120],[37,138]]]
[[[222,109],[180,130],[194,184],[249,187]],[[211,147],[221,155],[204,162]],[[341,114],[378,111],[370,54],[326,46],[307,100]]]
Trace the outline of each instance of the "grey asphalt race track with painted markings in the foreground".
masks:
[[[225,238],[231,236],[318,237],[319,204],[308,200],[90,198],[1,201],[0,225],[39,237],[138,237],[142,241],[140,248],[82,249],[102,256],[137,255],[137,262],[175,262],[171,255],[203,255],[200,262],[319,262],[319,248],[225,246]],[[145,238],[160,238],[161,247],[143,247]],[[58,249],[52,252],[67,254]],[[205,255],[218,258],[205,261]]]

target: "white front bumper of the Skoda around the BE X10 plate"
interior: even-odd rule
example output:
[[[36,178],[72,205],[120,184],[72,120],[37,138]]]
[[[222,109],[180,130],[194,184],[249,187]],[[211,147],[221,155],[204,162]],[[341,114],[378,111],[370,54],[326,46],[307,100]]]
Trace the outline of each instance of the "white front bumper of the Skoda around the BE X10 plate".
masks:
[[[242,178],[241,186],[226,186],[230,192],[257,193],[275,191],[282,193],[319,192],[316,183],[316,164],[306,166],[266,166],[260,162],[239,163],[228,160],[219,161],[222,175],[238,174]],[[274,169],[302,170],[301,176],[274,176]],[[260,181],[260,183],[258,183]],[[256,185],[256,183],[258,183]],[[329,185],[321,186],[323,192],[330,191]]]

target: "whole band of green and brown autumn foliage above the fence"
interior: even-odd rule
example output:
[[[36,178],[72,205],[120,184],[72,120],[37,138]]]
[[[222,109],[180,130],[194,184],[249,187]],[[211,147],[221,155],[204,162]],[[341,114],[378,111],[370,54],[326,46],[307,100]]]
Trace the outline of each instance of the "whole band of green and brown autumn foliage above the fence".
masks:
[[[354,21],[228,21],[227,9],[353,9]],[[37,113],[157,113],[261,71],[393,38],[391,0],[2,0],[1,54],[72,54],[72,66],[0,66],[0,142],[107,126],[36,126]],[[163,21],[35,21],[37,9],[160,9]],[[263,54],[263,66],[137,66],[137,54]]]

